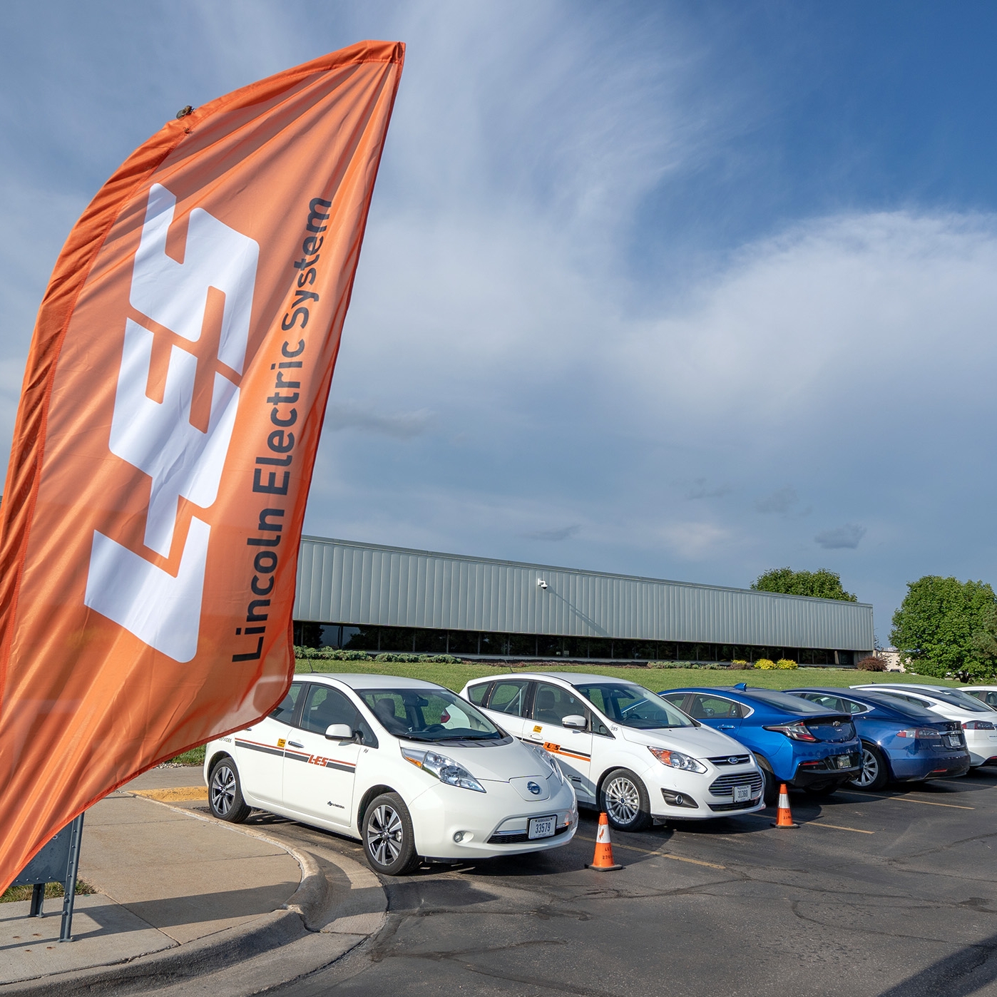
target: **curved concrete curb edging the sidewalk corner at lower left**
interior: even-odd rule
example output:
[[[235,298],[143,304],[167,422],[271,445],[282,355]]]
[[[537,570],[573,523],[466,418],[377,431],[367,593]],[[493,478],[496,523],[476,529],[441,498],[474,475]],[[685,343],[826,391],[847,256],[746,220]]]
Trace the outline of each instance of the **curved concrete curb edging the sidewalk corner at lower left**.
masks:
[[[197,821],[212,825],[221,824],[230,831],[247,834],[281,848],[294,858],[301,868],[298,888],[280,908],[269,914],[261,914],[247,924],[224,928],[196,941],[176,945],[161,952],[137,956],[125,962],[66,973],[53,973],[33,980],[0,985],[0,995],[51,997],[54,990],[58,989],[60,997],[77,997],[83,994],[107,993],[126,987],[128,992],[161,989],[194,977],[217,973],[262,953],[304,938],[314,937],[318,932],[325,935],[339,934],[340,937],[348,936],[354,939],[345,950],[337,951],[333,956],[334,959],[366,940],[384,923],[387,896],[384,897],[381,912],[359,917],[351,914],[349,895],[342,898],[332,895],[329,880],[318,862],[308,852],[297,851],[286,842],[262,831],[227,825],[148,797],[139,799],[149,800],[150,803],[166,807]],[[345,855],[331,854],[326,858],[349,878],[351,889],[367,889],[376,884],[383,891],[384,887],[381,886],[377,876],[353,859]],[[344,916],[334,918],[332,916],[334,907],[340,905],[345,905]],[[337,924],[338,921],[343,922],[341,926]],[[332,960],[325,960],[326,963],[329,961]],[[292,973],[292,978],[297,975],[300,974]]]

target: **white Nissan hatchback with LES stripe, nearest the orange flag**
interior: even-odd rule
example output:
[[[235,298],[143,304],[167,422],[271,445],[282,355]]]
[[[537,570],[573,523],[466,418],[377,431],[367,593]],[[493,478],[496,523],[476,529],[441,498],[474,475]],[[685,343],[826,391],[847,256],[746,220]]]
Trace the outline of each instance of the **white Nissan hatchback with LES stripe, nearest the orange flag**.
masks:
[[[269,717],[207,745],[211,813],[252,808],[363,841],[371,866],[477,860],[574,836],[570,782],[443,686],[391,675],[308,675]]]

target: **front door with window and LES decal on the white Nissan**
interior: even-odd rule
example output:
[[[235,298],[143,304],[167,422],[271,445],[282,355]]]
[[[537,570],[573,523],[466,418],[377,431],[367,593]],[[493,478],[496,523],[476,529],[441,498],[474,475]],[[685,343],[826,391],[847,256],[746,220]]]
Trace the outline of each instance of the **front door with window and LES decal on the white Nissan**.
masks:
[[[368,744],[327,740],[325,732],[332,724],[361,731],[368,743],[374,736],[342,692],[309,685],[301,717],[287,735],[283,804],[287,810],[349,827],[357,764]]]

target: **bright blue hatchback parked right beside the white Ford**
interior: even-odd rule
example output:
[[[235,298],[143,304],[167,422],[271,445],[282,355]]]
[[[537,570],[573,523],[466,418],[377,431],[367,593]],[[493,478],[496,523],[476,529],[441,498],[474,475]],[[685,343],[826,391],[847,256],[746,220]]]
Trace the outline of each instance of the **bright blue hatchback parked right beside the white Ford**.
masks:
[[[664,689],[658,693],[694,720],[750,749],[765,776],[765,799],[779,784],[829,794],[861,771],[861,745],[847,711],[744,683],[723,689]]]

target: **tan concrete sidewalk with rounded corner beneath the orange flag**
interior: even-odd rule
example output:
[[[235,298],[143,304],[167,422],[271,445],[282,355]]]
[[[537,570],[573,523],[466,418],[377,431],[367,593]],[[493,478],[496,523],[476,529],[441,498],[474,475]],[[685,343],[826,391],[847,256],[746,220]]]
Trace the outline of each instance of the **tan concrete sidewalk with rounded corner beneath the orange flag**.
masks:
[[[315,859],[198,814],[205,806],[200,769],[185,767],[146,773],[91,808],[80,878],[97,893],[76,898],[67,943],[61,898],[42,918],[27,916],[28,901],[0,905],[0,994],[83,992],[116,973],[168,983],[326,930],[333,898]],[[341,935],[311,959],[358,940]]]

